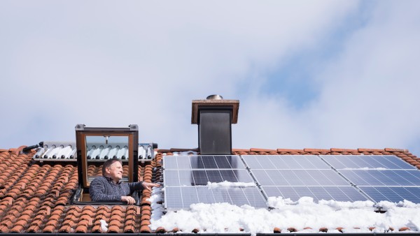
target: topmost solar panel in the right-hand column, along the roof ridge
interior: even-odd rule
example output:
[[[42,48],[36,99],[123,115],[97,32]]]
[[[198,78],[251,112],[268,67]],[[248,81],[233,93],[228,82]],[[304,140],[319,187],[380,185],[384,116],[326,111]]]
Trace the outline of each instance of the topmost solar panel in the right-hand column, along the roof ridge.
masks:
[[[355,155],[355,156],[321,156],[335,169],[416,169],[396,156]]]

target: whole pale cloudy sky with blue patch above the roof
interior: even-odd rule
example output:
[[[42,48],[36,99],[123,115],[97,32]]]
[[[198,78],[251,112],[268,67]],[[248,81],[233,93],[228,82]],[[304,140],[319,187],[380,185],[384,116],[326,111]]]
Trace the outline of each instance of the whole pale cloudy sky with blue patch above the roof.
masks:
[[[237,99],[232,147],[420,156],[420,1],[0,1],[0,149],[139,125],[195,148],[191,101]]]

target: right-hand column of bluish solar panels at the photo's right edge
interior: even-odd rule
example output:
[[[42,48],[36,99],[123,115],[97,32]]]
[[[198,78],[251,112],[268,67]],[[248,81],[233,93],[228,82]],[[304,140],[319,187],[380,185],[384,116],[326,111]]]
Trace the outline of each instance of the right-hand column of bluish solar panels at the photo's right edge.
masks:
[[[374,202],[420,203],[420,171],[392,155],[321,156]]]

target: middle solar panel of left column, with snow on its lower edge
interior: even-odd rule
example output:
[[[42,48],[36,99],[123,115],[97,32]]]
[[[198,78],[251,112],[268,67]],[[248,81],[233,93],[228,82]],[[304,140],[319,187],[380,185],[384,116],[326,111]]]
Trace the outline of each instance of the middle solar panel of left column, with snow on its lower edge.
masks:
[[[165,186],[197,186],[207,182],[253,182],[246,170],[165,170]]]

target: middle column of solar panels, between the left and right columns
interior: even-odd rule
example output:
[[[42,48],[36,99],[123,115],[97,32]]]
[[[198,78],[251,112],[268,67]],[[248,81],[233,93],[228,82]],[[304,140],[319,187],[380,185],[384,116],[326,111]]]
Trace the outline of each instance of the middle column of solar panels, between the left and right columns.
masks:
[[[244,155],[241,158],[267,198],[369,199],[317,155]]]

